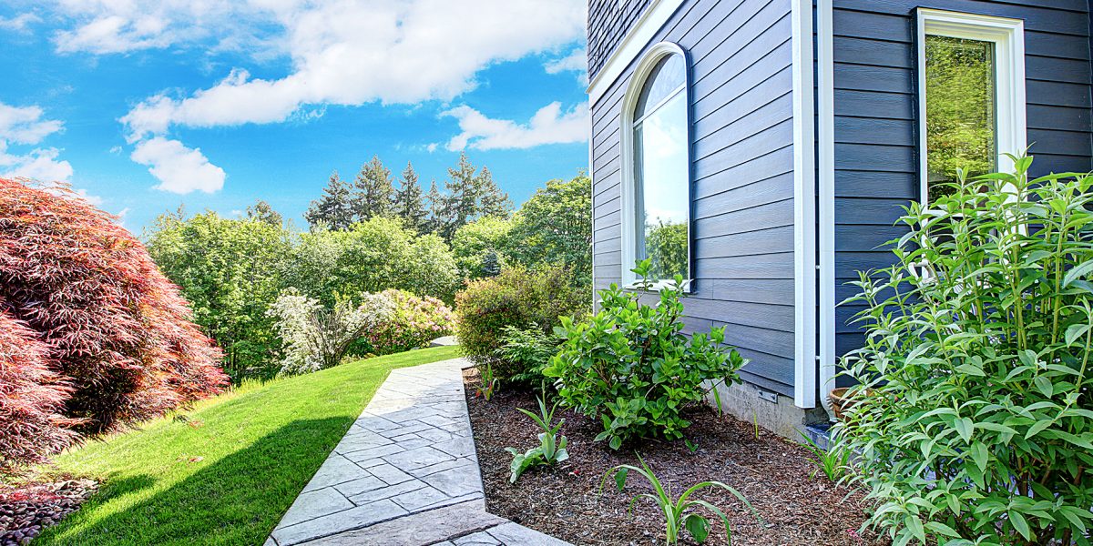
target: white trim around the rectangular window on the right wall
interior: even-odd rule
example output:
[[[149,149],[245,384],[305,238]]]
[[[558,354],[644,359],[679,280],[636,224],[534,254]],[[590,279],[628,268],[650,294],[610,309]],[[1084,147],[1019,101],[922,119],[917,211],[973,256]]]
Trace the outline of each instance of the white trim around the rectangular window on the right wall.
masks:
[[[919,198],[929,197],[926,157],[926,35],[976,39],[995,44],[997,93],[996,130],[998,170],[1013,169],[1006,154],[1021,154],[1027,147],[1025,121],[1024,21],[1019,19],[959,13],[943,10],[918,10],[918,161]]]

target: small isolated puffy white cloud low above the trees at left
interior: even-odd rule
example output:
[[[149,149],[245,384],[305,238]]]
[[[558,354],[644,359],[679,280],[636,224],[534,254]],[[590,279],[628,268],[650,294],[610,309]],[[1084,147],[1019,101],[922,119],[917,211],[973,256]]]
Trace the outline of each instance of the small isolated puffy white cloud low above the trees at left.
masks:
[[[224,187],[224,169],[209,163],[200,149],[188,149],[177,140],[162,136],[145,140],[129,157],[149,166],[148,171],[160,180],[157,190],[212,193]]]

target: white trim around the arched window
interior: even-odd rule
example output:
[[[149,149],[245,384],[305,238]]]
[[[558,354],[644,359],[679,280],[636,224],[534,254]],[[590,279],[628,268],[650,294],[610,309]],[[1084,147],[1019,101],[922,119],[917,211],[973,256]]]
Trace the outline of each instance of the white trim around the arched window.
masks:
[[[683,50],[677,44],[671,41],[661,41],[651,46],[642,59],[638,61],[637,67],[634,68],[634,73],[630,76],[630,83],[626,86],[626,93],[622,98],[622,114],[619,116],[620,130],[619,130],[619,161],[622,174],[622,180],[620,182],[620,201],[622,204],[622,272],[620,278],[622,278],[622,284],[626,288],[637,288],[637,277],[631,271],[634,266],[636,257],[636,242],[637,242],[637,219],[636,211],[634,210],[634,191],[636,190],[634,181],[634,107],[637,106],[637,99],[642,94],[642,87],[645,85],[646,79],[648,79],[649,73],[653,72],[654,67],[660,59],[669,55],[679,55],[683,59],[684,67],[684,87],[683,87],[683,99],[686,102],[686,150],[687,150],[687,219],[686,219],[686,237],[687,237],[687,273],[693,275],[693,263],[692,263],[692,169],[693,169],[693,157],[692,157],[692,116],[691,116],[691,63],[687,59],[686,51]],[[668,285],[668,281],[660,281],[657,283],[651,283],[651,289],[659,289]],[[683,282],[684,289],[690,292],[693,283],[690,278]]]

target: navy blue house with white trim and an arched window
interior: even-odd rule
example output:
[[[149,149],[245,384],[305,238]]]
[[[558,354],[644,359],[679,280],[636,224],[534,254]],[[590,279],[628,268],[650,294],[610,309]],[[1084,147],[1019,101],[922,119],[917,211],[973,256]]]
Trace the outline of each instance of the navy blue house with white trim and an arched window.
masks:
[[[827,419],[837,307],[959,166],[1093,169],[1090,0],[589,0],[595,285],[690,280],[750,358],[731,410]]]

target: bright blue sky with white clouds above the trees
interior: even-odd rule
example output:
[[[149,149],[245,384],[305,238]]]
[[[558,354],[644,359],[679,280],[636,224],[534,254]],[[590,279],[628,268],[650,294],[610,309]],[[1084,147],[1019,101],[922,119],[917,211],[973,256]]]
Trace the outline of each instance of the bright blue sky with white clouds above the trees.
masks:
[[[257,199],[302,226],[374,154],[427,189],[466,151],[519,203],[588,163],[585,2],[59,0],[0,8],[0,176],[139,233]]]

